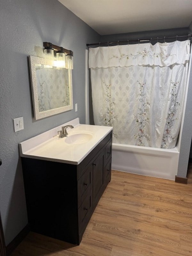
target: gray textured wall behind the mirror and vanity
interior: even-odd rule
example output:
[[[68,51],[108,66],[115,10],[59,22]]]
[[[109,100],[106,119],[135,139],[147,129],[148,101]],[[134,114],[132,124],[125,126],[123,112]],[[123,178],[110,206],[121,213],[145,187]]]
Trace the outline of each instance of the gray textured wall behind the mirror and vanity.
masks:
[[[0,211],[7,245],[28,223],[18,143],[76,117],[85,123],[85,49],[100,36],[57,0],[3,0],[0,8]],[[44,41],[74,52],[73,102],[78,112],[35,121],[28,56],[43,57]],[[15,133],[12,119],[20,116],[24,130]]]

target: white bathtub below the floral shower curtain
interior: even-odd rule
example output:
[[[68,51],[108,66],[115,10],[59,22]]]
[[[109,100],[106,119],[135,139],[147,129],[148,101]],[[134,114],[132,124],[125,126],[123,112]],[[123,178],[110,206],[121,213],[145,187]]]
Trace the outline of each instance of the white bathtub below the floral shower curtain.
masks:
[[[150,148],[113,143],[112,169],[175,180],[178,148]]]

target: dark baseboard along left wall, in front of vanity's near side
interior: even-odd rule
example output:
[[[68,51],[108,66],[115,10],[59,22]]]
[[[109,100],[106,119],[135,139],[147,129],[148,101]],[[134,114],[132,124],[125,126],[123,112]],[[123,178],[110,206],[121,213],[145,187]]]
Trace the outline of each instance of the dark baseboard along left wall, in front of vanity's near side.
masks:
[[[22,240],[28,235],[30,226],[27,224],[20,233],[6,246],[6,256],[11,255],[14,249],[22,242]]]

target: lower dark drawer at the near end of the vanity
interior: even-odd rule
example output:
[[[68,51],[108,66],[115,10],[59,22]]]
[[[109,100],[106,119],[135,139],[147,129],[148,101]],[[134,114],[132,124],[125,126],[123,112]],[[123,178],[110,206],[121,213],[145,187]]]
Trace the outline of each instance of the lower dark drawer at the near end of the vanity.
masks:
[[[83,203],[79,208],[79,231],[84,228],[91,218],[91,212],[93,208],[92,194],[87,195]]]

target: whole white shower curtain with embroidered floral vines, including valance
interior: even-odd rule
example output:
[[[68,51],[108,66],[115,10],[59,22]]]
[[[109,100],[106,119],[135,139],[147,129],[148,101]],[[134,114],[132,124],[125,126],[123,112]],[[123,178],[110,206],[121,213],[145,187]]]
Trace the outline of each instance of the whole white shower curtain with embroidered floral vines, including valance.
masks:
[[[115,143],[174,148],[189,56],[189,40],[90,48],[94,123]]]

